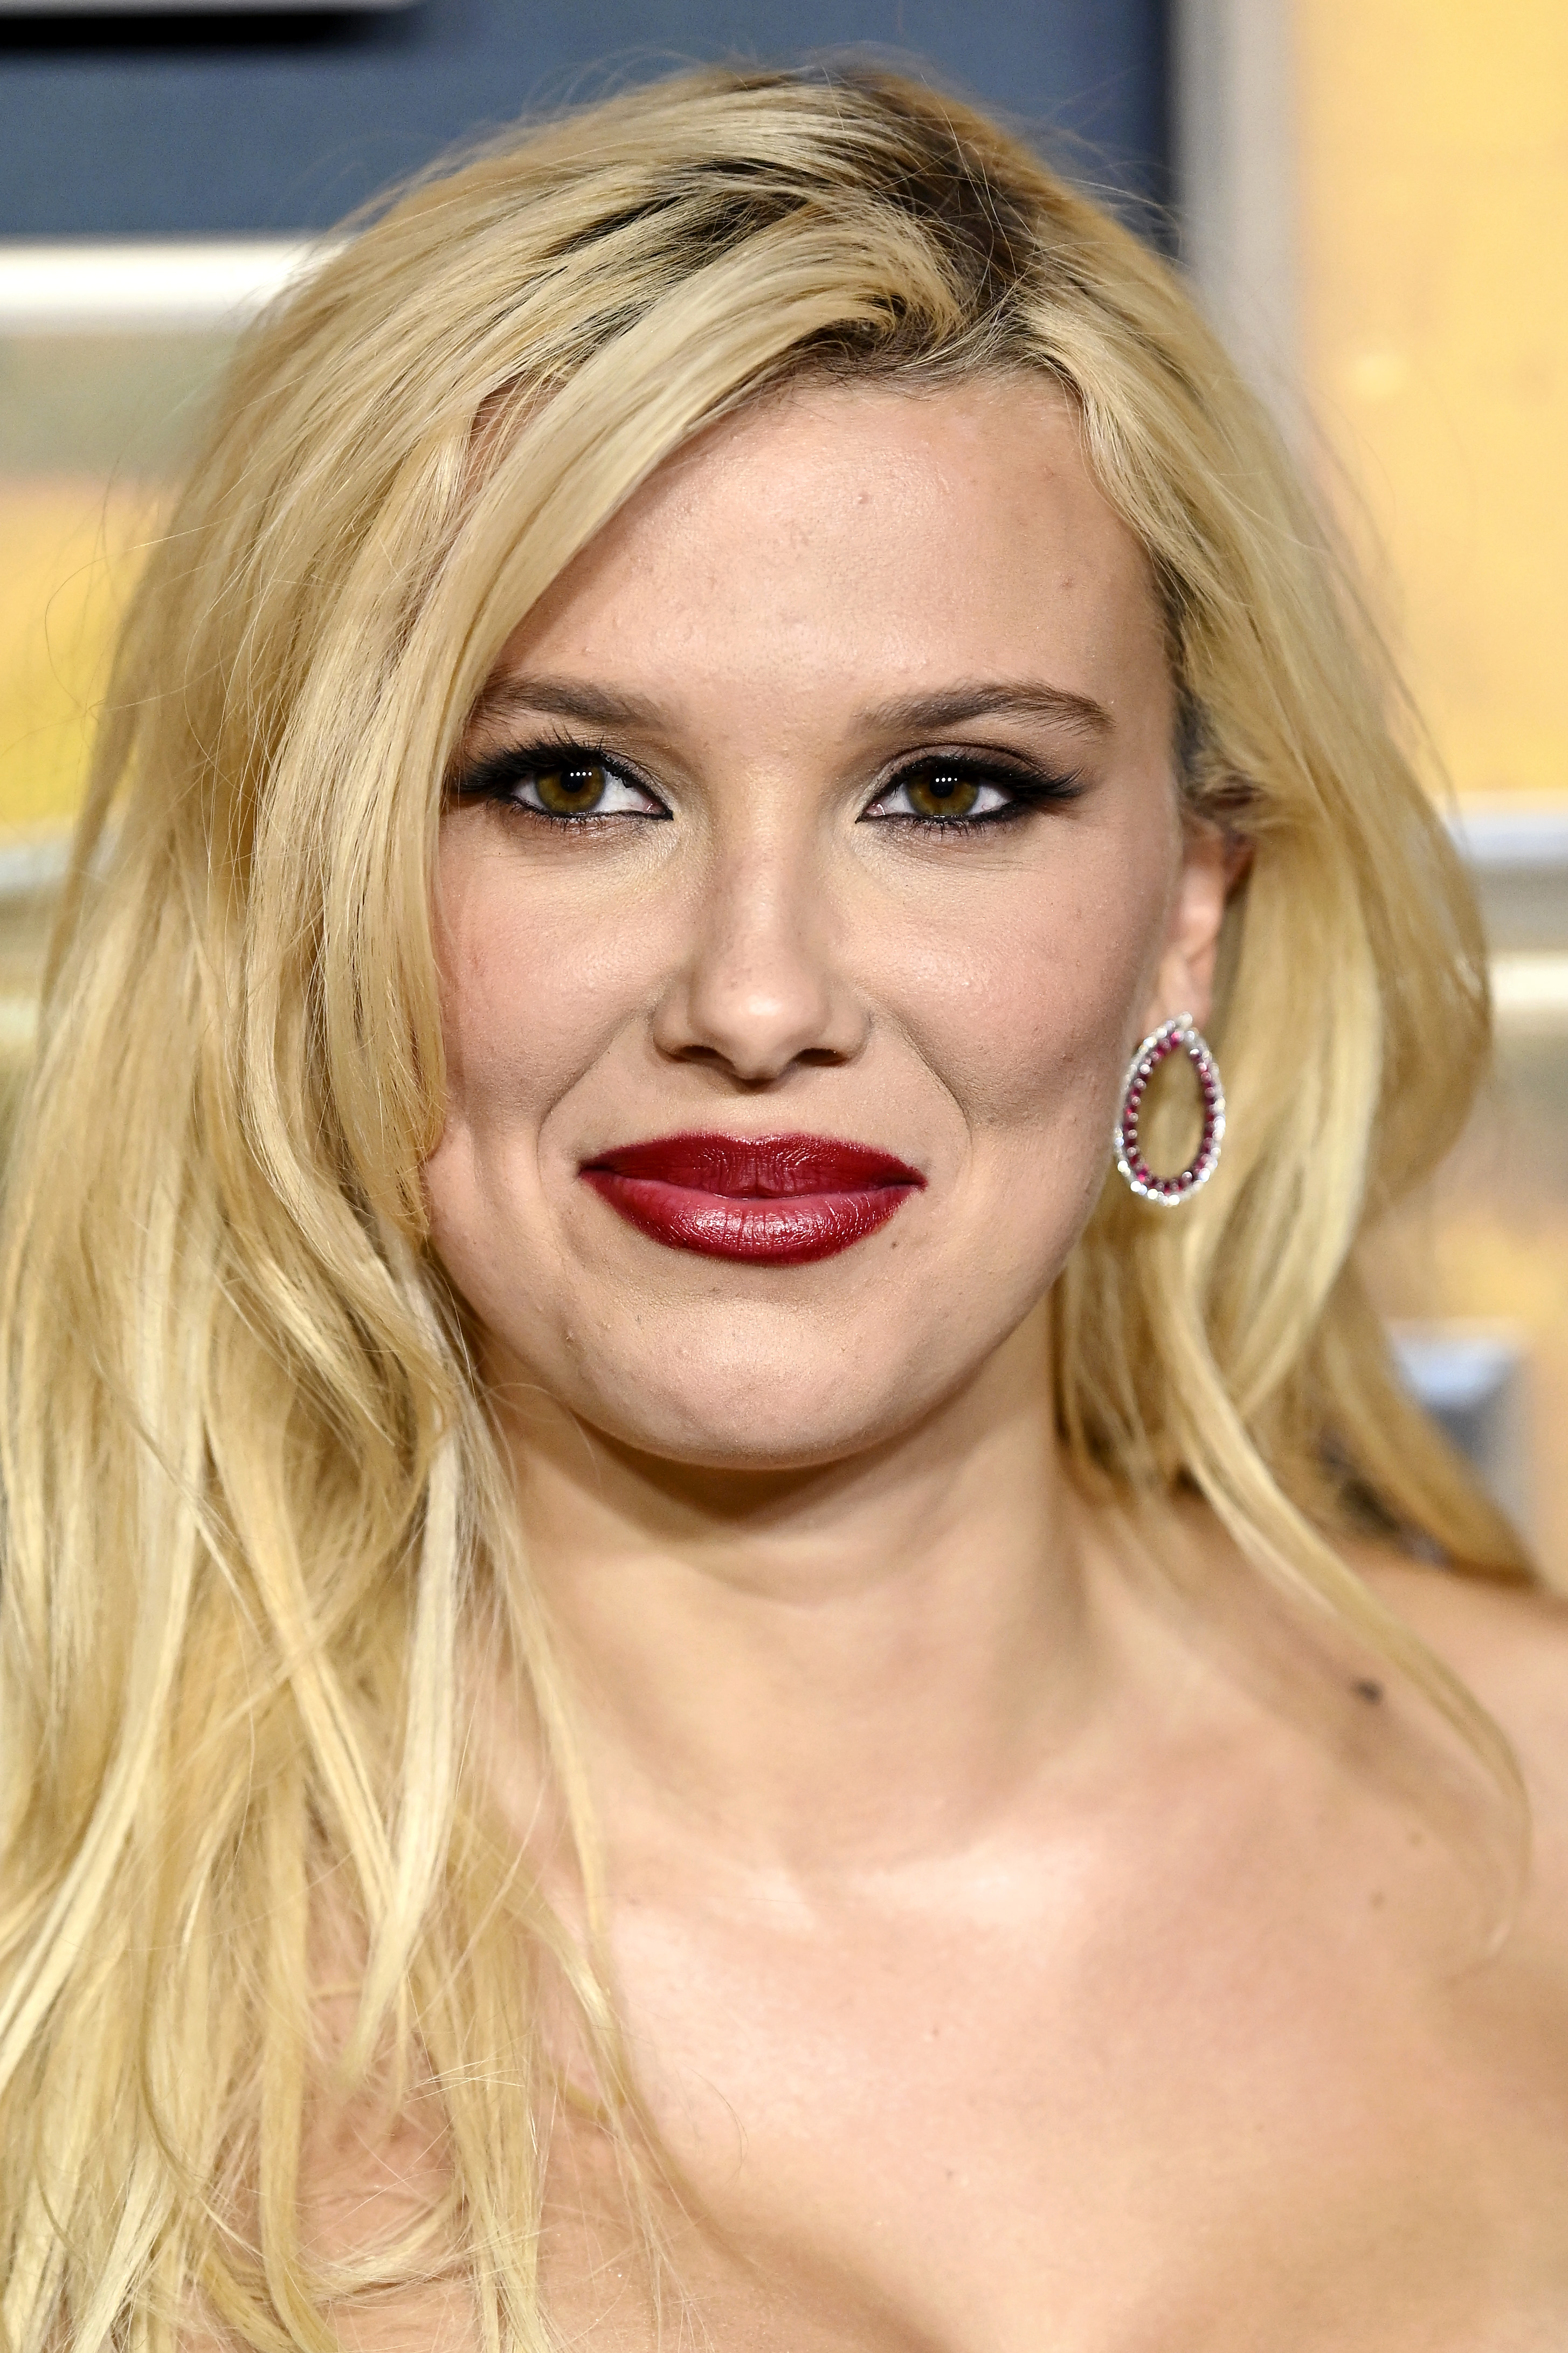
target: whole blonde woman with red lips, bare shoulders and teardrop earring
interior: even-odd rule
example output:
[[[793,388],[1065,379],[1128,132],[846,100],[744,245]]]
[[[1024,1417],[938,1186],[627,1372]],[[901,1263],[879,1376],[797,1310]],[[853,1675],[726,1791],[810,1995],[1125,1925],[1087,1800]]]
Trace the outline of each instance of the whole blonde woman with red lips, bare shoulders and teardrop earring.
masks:
[[[247,339],[12,1181],[7,2346],[1563,2341],[1363,640],[1171,271],[893,78],[505,139]]]

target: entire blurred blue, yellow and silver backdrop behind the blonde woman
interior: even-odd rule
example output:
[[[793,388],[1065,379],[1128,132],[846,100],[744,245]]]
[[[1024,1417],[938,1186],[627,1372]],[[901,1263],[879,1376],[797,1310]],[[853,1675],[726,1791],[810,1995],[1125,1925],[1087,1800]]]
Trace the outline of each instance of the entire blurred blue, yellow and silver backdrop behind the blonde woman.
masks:
[[[1173,252],[1361,551],[1500,1026],[1373,1275],[1568,1586],[1563,0],[0,0],[0,1094],[115,614],[237,325],[468,132],[842,42],[994,106]]]

